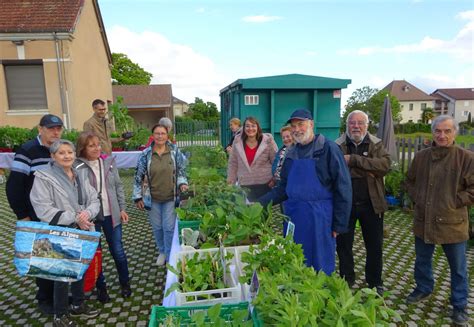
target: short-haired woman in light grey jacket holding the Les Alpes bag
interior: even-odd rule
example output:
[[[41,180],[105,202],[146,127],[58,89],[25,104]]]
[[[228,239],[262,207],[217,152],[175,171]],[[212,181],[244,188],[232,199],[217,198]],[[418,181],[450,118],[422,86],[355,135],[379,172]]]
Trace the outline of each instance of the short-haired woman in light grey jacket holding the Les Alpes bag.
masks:
[[[51,222],[59,215],[58,225],[77,225],[93,230],[93,219],[99,212],[97,192],[89,181],[73,168],[74,145],[58,140],[49,148],[50,166],[35,172],[30,200],[38,218]],[[84,303],[83,280],[71,283],[72,305],[68,308],[69,283],[54,282],[53,326],[76,326],[71,316],[96,317],[99,312]]]

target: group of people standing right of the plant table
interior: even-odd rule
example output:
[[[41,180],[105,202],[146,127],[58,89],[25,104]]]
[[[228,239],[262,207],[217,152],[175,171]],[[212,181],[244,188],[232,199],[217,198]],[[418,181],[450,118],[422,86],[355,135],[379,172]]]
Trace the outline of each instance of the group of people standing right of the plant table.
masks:
[[[365,281],[383,296],[384,176],[391,160],[383,142],[368,132],[367,114],[351,112],[346,133],[333,142],[314,133],[308,110],[295,110],[280,131],[284,145],[278,153],[271,134],[262,133],[255,118],[246,118],[242,128],[235,118],[230,123],[228,183],[246,188],[251,202],[283,203],[306,264],[331,274],[337,253],[339,274],[351,287],[359,222]],[[451,116],[436,117],[432,145],[417,153],[408,171],[406,188],[415,206],[416,287],[406,302],[418,303],[433,292],[432,256],[435,244],[441,244],[451,270],[451,317],[464,326],[469,320],[466,244],[474,154],[455,145],[457,130]]]

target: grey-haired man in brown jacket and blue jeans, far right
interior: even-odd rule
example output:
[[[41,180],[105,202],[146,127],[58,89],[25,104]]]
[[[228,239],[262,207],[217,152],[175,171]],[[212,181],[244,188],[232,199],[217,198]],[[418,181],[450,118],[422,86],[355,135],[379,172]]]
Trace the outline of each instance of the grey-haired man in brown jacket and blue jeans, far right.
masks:
[[[408,170],[407,190],[415,206],[416,288],[407,303],[433,292],[432,257],[441,244],[451,270],[452,319],[467,326],[468,277],[466,241],[468,207],[474,204],[474,153],[454,144],[457,125],[438,116],[431,125],[433,146],[418,152]]]

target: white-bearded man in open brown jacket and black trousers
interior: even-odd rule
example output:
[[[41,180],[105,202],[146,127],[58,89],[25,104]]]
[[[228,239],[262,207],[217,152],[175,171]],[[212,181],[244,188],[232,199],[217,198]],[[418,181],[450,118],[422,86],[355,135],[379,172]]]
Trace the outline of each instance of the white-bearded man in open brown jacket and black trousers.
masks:
[[[351,173],[352,210],[349,231],[337,236],[339,274],[352,286],[355,282],[354,231],[357,220],[362,228],[367,257],[365,280],[369,288],[383,295],[382,250],[383,213],[387,210],[383,177],[390,169],[390,155],[382,140],[367,132],[369,117],[355,110],[347,117],[346,134],[336,140]]]

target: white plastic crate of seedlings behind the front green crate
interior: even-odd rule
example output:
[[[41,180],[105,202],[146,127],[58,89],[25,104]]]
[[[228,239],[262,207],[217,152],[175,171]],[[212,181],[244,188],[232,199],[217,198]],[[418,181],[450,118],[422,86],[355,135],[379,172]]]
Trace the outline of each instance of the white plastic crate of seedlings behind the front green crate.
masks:
[[[181,261],[183,257],[192,257],[197,252],[199,256],[205,256],[206,254],[215,254],[219,251],[218,248],[215,249],[205,249],[205,250],[195,250],[195,251],[181,251],[177,253],[176,265]],[[224,249],[224,254],[227,255],[228,249]],[[233,251],[232,251],[233,252]],[[240,283],[235,280],[234,275],[231,273],[232,267],[234,266],[237,269],[237,264],[235,262],[235,253],[234,257],[231,259],[229,269],[227,270],[227,281],[228,287],[215,290],[207,291],[197,291],[197,292],[180,292],[175,291],[176,293],[176,305],[177,306],[190,306],[190,305],[213,305],[216,303],[238,303],[242,301],[242,289]],[[179,270],[176,266],[175,268]]]

